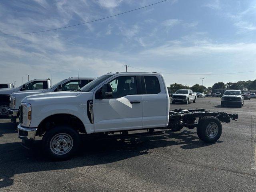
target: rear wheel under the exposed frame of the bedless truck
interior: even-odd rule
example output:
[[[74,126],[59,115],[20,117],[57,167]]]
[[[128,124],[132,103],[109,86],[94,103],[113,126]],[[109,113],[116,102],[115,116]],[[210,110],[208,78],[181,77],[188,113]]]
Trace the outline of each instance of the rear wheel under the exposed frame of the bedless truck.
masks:
[[[222,125],[218,118],[204,116],[196,127],[198,137],[206,143],[216,142],[222,133]]]

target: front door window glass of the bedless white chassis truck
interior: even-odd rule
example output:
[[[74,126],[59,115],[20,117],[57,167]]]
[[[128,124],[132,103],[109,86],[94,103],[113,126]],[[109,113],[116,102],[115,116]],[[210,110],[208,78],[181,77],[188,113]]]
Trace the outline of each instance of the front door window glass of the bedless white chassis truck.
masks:
[[[137,94],[136,76],[120,76],[109,84],[112,86],[112,98]]]

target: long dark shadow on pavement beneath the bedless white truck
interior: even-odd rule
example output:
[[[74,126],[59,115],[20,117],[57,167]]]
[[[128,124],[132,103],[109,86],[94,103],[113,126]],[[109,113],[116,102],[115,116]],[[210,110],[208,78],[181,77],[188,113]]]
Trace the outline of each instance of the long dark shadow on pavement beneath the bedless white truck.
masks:
[[[4,132],[13,132],[6,130]],[[135,156],[148,154],[148,150],[166,146],[181,145],[184,150],[208,146],[197,136],[196,132],[183,130],[168,131],[154,136],[130,137],[125,139],[83,139],[83,144],[76,156],[62,162],[52,162],[44,156],[41,140],[34,142],[34,148],[26,150],[19,142],[0,144],[0,188],[13,184],[12,176],[22,173],[48,170],[64,170],[83,166],[108,164]],[[174,138],[175,140],[171,140]]]

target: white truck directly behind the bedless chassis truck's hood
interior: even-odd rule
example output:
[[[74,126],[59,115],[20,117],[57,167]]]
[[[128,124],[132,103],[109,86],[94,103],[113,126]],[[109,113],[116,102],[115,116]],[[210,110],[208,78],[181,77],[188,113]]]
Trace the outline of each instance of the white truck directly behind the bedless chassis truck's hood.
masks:
[[[8,110],[11,121],[16,123],[16,119],[19,116],[19,106],[21,100],[26,96],[40,94],[40,93],[49,93],[56,91],[72,91],[80,89],[95,78],[68,78],[64,79],[48,89],[39,89],[39,90],[27,90],[27,91],[18,91],[14,92],[10,96],[10,108]]]

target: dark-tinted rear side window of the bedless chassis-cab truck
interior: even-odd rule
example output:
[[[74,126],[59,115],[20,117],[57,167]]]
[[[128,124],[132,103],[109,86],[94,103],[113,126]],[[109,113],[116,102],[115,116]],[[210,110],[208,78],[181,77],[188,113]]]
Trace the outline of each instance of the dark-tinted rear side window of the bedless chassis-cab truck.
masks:
[[[160,84],[156,76],[144,76],[146,85],[146,94],[160,93]]]

